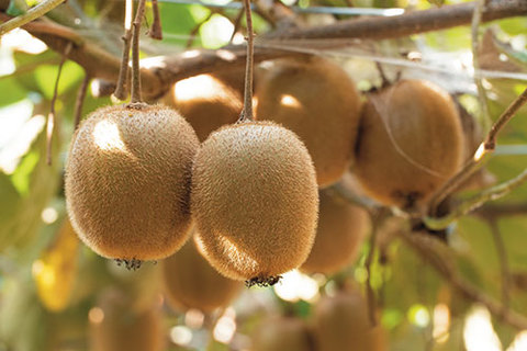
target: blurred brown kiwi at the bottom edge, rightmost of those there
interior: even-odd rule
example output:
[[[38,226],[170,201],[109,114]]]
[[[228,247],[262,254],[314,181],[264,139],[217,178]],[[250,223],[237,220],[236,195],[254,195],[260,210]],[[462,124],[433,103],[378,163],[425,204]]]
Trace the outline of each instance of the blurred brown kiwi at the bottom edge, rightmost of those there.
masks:
[[[368,304],[360,293],[337,292],[315,306],[318,351],[385,351],[388,343],[380,325],[372,328]]]

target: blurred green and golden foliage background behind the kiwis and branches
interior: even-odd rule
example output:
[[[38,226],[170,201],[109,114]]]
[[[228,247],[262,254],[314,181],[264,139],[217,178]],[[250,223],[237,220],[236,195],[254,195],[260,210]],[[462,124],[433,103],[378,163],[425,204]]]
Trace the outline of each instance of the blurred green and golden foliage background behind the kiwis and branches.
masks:
[[[4,1],[2,10],[16,15],[37,2]],[[287,0],[283,4],[296,9],[293,15],[302,25],[321,26],[349,19],[343,9],[355,9],[362,15],[393,15],[461,2]],[[208,3],[159,0],[164,39],[144,35],[142,56],[242,44],[242,3]],[[317,9],[313,13],[302,11],[314,7]],[[121,56],[124,1],[68,0],[47,18]],[[148,2],[143,33],[152,20]],[[270,42],[264,34],[276,30],[277,22],[265,10],[255,11],[254,20],[257,47],[265,48]],[[479,65],[485,70],[482,84],[490,115],[495,120],[527,88],[527,19],[517,16],[482,24],[479,33]],[[173,263],[173,274],[181,276],[172,283],[166,278],[172,274],[167,273],[171,269],[168,260],[145,262],[139,270],[128,271],[97,256],[70,227],[63,189],[85,70],[71,60],[66,60],[61,68],[54,103],[55,123],[51,126],[53,161],[47,165],[46,121],[61,56],[24,30],[14,30],[0,41],[1,351],[356,350],[349,348],[349,340],[361,344],[357,350],[527,350],[527,330],[511,326],[483,305],[464,298],[437,264],[430,264],[397,236],[403,226],[401,219],[390,218],[377,228],[378,250],[367,270],[371,218],[363,210],[350,210],[351,205],[343,204],[341,195],[335,191],[327,192],[327,202],[361,212],[361,219],[357,220],[362,220],[361,225],[337,229],[351,233],[356,244],[336,271],[292,271],[272,287],[247,288],[243,283],[213,276],[214,271],[210,272],[206,263],[200,261],[192,242],[186,247],[186,257]],[[377,64],[382,65],[390,79],[402,75],[433,81],[456,97],[475,125],[482,124],[470,25],[400,39],[356,41],[336,48],[322,47],[319,41],[300,44],[289,39],[272,45],[337,63],[360,91],[380,86]],[[243,81],[243,71],[236,75]],[[90,82],[82,116],[113,103],[100,92],[104,83]],[[500,146],[486,167],[487,178],[481,182],[506,181],[526,165],[524,109],[501,134]],[[480,184],[475,190],[466,190],[459,196],[470,196],[481,188]],[[475,212],[460,218],[448,229],[448,252],[438,258],[478,291],[524,314],[526,199],[527,188],[523,186],[495,203],[502,212]],[[327,220],[339,219],[335,216]],[[176,273],[181,267],[188,268],[183,270],[187,274]],[[378,297],[374,329],[367,327],[368,280]],[[173,292],[167,286],[170,284]],[[343,339],[346,333],[350,333],[348,339]],[[332,338],[340,341],[330,341]]]

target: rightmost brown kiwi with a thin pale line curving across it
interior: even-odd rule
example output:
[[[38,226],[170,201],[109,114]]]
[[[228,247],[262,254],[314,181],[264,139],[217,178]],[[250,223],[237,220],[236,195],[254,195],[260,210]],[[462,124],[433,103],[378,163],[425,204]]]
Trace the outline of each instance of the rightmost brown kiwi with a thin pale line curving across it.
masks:
[[[370,94],[352,170],[369,196],[410,210],[459,170],[463,143],[450,95],[426,81],[402,80]]]

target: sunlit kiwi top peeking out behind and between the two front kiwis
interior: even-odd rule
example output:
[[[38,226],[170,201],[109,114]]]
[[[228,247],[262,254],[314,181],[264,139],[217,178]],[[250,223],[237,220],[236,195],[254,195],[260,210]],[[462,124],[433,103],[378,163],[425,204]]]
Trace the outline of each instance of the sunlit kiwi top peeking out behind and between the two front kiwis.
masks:
[[[161,100],[192,125],[200,141],[225,124],[235,123],[243,95],[217,75],[199,75],[178,81]]]

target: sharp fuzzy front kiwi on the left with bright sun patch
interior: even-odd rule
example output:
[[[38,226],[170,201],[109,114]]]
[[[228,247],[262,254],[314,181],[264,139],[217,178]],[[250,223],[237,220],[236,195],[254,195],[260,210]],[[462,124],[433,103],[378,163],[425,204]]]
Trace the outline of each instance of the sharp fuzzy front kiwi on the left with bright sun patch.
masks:
[[[157,260],[189,237],[199,140],[173,110],[108,106],[77,129],[66,165],[74,228],[100,256]]]

